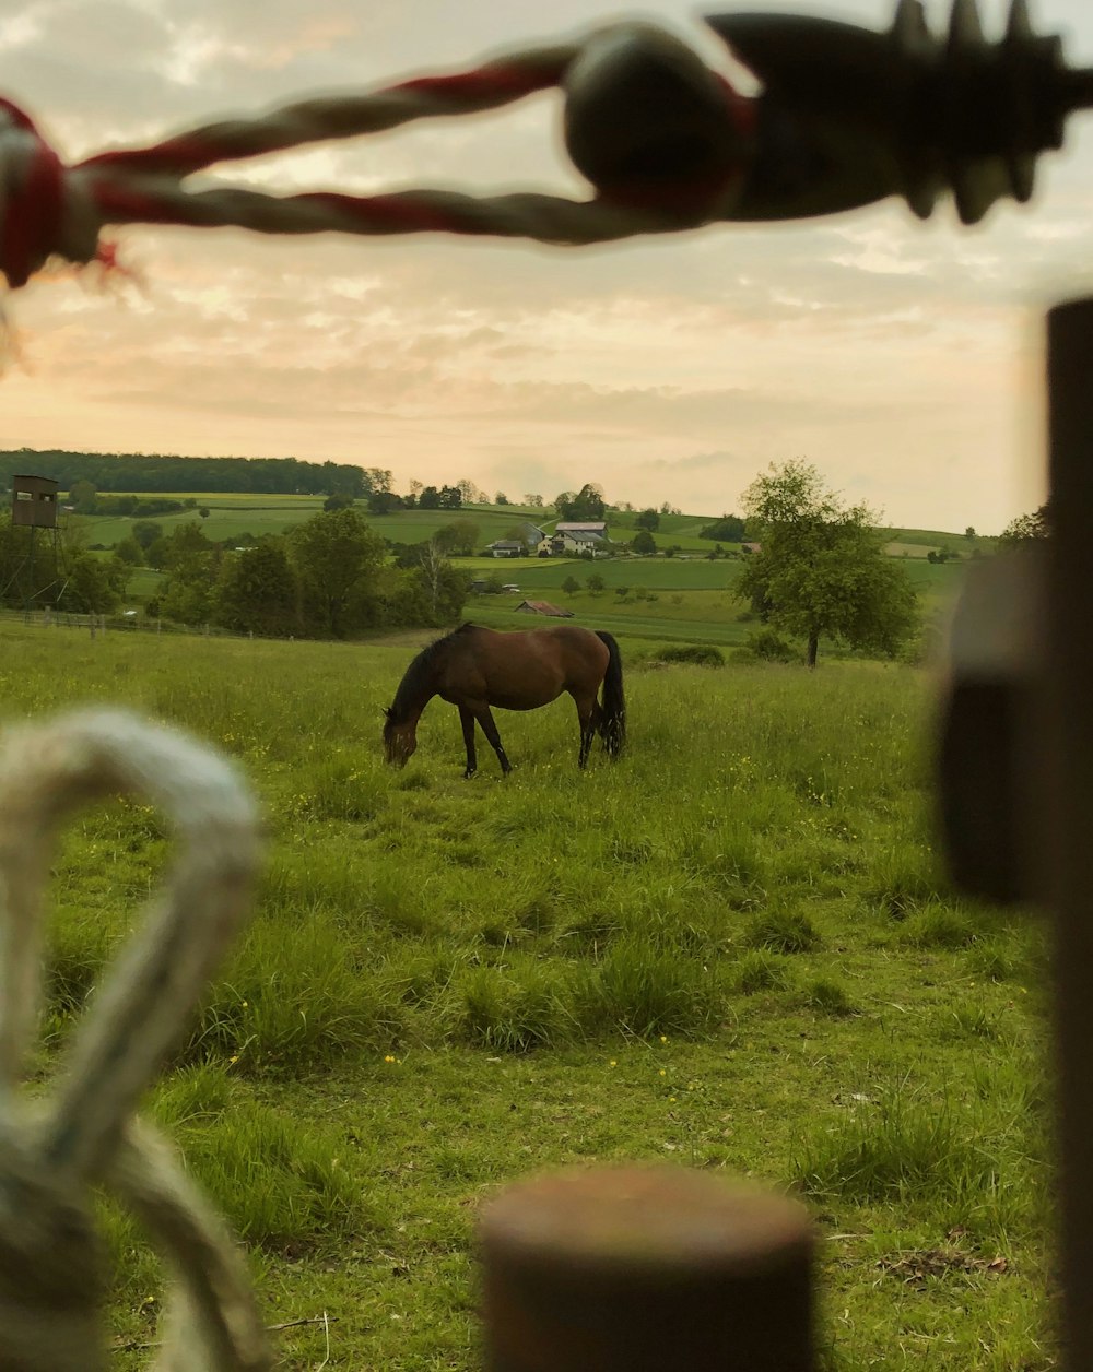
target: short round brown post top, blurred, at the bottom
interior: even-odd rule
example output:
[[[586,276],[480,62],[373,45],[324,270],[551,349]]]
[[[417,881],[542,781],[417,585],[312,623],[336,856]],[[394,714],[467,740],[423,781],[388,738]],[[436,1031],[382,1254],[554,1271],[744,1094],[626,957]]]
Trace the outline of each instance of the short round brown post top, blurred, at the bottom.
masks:
[[[676,1168],[511,1187],[483,1210],[487,1372],[813,1372],[802,1206]]]

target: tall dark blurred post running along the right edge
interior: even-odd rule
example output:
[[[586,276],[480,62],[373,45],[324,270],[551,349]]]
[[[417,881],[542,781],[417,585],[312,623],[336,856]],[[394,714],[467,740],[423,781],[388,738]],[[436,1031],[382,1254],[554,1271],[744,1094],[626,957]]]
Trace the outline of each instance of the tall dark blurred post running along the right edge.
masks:
[[[1093,298],[1048,316],[1044,889],[1055,915],[1063,1365],[1093,1368]]]

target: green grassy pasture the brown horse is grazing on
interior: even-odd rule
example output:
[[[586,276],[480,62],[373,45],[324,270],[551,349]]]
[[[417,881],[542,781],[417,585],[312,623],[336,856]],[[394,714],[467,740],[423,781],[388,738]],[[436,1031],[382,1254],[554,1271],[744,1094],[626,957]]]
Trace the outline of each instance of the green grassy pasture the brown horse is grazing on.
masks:
[[[0,624],[4,723],[128,702],[216,742],[261,797],[254,922],[148,1109],[246,1236],[269,1321],[328,1312],[331,1368],[470,1372],[476,1206],[628,1158],[807,1200],[825,1369],[1046,1372],[1042,936],[938,874],[928,681],[656,668],[619,634],[619,763],[577,771],[563,701],[498,712],[516,770],[482,749],[464,782],[441,702],[405,771],[380,761],[427,634]],[[69,829],[44,1066],[165,853],[137,804]],[[157,1264],[106,1224],[111,1334],[148,1342]],[[325,1357],[313,1325],[276,1338],[287,1368]]]

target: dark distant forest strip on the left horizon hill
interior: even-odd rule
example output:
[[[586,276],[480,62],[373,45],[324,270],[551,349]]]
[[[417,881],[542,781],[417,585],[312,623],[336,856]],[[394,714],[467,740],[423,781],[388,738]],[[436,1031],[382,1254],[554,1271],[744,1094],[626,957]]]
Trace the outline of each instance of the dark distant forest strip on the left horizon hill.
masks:
[[[99,491],[224,491],[254,495],[369,495],[390,490],[382,468],[303,462],[295,457],[177,457],[163,453],[0,450],[0,487],[12,476],[49,476],[62,490],[91,482]]]

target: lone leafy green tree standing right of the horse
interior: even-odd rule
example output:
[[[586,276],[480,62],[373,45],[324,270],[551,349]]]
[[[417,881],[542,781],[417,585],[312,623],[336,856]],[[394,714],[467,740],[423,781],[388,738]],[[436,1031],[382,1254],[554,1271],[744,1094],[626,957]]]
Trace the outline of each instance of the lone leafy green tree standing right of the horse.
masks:
[[[865,505],[844,505],[812,464],[798,460],[757,476],[744,509],[759,552],[736,594],[763,622],[806,639],[809,667],[821,638],[883,656],[910,638],[919,622],[914,590],[884,556],[876,516]]]

